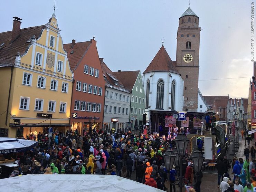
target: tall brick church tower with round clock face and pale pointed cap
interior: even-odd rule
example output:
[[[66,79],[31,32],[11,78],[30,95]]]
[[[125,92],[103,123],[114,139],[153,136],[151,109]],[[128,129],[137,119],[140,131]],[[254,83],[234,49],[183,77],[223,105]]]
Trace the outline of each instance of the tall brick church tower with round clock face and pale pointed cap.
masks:
[[[199,17],[190,7],[179,18],[177,32],[176,68],[184,79],[185,111],[197,112],[199,72]]]

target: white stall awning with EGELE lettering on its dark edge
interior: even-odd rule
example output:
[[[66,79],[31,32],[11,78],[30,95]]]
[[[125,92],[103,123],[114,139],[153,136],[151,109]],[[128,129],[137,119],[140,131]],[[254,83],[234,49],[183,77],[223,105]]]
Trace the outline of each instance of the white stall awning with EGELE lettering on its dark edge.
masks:
[[[17,153],[37,146],[38,141],[0,137],[0,154]]]

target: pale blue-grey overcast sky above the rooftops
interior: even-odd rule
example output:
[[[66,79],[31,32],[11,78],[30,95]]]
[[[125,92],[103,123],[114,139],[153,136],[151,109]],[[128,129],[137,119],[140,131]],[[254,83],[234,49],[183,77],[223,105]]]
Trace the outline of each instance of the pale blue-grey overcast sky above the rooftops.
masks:
[[[191,0],[201,27],[199,89],[203,95],[248,98],[253,75],[251,3]],[[53,5],[53,0],[1,1],[0,32],[12,30],[14,16],[22,19],[21,28],[48,23]],[[178,20],[188,0],[56,0],[56,7],[64,44],[95,36],[99,57],[112,71],[143,73],[163,37],[169,56],[176,60]]]

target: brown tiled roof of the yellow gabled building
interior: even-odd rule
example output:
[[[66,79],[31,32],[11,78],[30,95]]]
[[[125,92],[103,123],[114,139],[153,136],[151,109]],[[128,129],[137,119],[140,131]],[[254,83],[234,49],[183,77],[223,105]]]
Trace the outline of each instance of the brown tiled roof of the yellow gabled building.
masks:
[[[0,33],[0,45],[4,43],[0,47],[0,67],[14,65],[17,52],[20,52],[20,55],[25,54],[30,45],[30,42],[27,41],[33,35],[39,38],[44,28],[45,25],[20,29],[18,37],[12,43],[12,31]]]

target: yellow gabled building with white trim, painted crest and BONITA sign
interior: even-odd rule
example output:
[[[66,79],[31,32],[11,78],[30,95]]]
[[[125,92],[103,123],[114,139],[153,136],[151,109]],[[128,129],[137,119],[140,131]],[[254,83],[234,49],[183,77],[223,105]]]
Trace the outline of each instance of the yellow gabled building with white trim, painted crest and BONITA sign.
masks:
[[[73,73],[53,14],[42,26],[0,33],[0,137],[69,129]],[[52,118],[38,118],[52,114]]]

